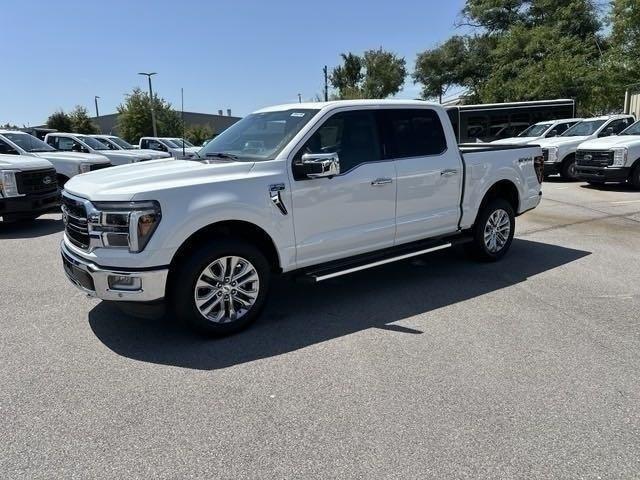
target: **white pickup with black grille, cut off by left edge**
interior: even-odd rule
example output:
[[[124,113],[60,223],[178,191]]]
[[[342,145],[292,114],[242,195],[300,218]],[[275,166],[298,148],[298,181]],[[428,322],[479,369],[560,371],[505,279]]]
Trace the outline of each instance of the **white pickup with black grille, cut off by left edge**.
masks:
[[[33,220],[60,207],[51,163],[26,155],[0,154],[0,217]]]

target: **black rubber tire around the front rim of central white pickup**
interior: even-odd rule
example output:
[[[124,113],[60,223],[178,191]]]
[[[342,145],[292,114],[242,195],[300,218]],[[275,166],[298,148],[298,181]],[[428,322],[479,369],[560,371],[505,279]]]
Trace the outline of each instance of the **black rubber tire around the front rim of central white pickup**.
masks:
[[[253,267],[257,273],[258,282],[254,284],[257,285],[257,297],[254,303],[247,309],[246,313],[242,314],[239,318],[226,323],[217,323],[212,319],[206,318],[198,309],[195,299],[197,295],[196,283],[201,274],[204,273],[205,268],[218,259],[232,256],[249,262],[250,266]],[[229,268],[228,263],[225,268]],[[177,317],[185,321],[190,327],[207,335],[230,335],[246,328],[258,318],[267,298],[270,277],[271,268],[269,262],[258,248],[242,240],[222,239],[214,242],[212,245],[203,245],[180,266],[179,270],[176,271],[175,278],[171,279],[170,288],[172,291],[169,292],[169,298],[174,305],[174,311]],[[231,278],[231,276],[229,278]],[[218,286],[220,285],[221,284],[218,283]],[[227,315],[230,311],[228,302],[231,302],[234,310],[237,309],[239,305],[234,302],[235,297],[231,294],[231,292],[236,293],[236,290],[231,291],[231,288],[231,282],[227,281],[221,288],[212,286],[210,289],[212,295],[215,292],[216,296],[221,295],[224,297],[225,300],[218,300],[219,305],[216,309],[224,308],[227,318],[231,318],[230,315]],[[221,293],[223,289],[228,290]],[[199,289],[198,292],[201,290],[202,289]],[[212,302],[216,300],[216,296],[211,297]],[[229,300],[226,300],[227,297],[229,297]],[[246,298],[247,297],[242,297],[240,300],[246,301]],[[242,309],[240,308],[238,310]]]

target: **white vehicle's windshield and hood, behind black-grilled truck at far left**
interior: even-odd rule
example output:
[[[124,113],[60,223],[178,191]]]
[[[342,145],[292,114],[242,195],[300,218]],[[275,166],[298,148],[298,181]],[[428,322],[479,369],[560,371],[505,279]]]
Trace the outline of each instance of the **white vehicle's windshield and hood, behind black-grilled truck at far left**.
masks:
[[[0,130],[0,153],[27,155],[51,162],[56,169],[59,186],[79,173],[110,167],[104,155],[79,152],[60,152],[39,138],[16,130]]]

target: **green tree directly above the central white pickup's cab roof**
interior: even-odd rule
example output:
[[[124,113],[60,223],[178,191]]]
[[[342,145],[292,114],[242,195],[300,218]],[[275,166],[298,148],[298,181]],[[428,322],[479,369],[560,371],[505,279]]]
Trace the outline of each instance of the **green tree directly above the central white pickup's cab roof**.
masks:
[[[330,81],[338,98],[386,98],[402,89],[407,76],[406,61],[379,48],[363,56],[342,54],[343,64],[334,68]]]

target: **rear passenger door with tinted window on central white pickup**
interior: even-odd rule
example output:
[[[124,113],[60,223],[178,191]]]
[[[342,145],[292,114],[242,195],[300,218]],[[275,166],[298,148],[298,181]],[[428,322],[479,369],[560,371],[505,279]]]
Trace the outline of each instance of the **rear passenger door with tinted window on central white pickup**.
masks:
[[[398,183],[395,243],[455,232],[463,171],[457,145],[447,146],[447,117],[430,108],[382,112],[386,154]]]

